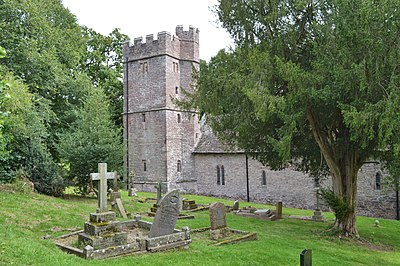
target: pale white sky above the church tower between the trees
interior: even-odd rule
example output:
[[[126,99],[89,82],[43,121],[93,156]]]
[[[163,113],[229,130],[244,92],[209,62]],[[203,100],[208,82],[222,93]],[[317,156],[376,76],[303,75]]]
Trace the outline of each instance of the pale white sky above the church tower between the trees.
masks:
[[[80,25],[108,35],[120,28],[133,42],[134,38],[189,25],[200,30],[200,58],[209,60],[233,43],[229,34],[216,22],[210,8],[217,0],[62,0]]]

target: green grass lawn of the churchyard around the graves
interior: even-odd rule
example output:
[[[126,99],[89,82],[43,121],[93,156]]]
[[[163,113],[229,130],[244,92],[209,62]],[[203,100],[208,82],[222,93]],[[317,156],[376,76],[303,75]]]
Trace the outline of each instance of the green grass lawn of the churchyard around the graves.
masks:
[[[144,212],[152,205],[138,203],[137,198],[128,197],[126,191],[122,194],[129,212]],[[139,197],[154,196],[153,193],[139,193]],[[196,203],[220,201],[233,204],[232,200],[195,195],[184,197],[194,199]],[[306,248],[313,250],[313,263],[317,266],[400,265],[399,221],[379,219],[380,227],[375,227],[374,218],[358,217],[363,241],[349,241],[326,233],[328,222],[287,218],[270,222],[231,213],[227,214],[228,226],[257,232],[257,241],[215,247],[201,235],[192,234],[193,243],[188,250],[87,261],[60,251],[52,238],[69,233],[68,230],[82,229],[89,213],[96,209],[95,198],[70,196],[61,199],[3,189],[0,202],[0,265],[299,265],[299,254]],[[312,212],[283,208],[283,214],[312,215]],[[177,227],[209,226],[208,211],[194,215],[195,219],[179,220]],[[325,216],[333,218],[332,214],[325,213]]]

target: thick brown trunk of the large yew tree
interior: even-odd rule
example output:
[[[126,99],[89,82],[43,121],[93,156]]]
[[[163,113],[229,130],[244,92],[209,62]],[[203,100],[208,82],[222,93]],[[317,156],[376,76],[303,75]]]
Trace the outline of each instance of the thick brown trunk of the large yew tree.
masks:
[[[335,146],[335,141],[339,137],[336,132],[341,132],[340,137],[344,137],[345,140],[346,137],[350,138],[343,123],[339,123],[339,128],[332,130],[335,133],[327,132],[320,127],[311,108],[307,109],[307,120],[331,171],[334,195],[347,206],[344,214],[335,213],[334,228],[339,229],[346,236],[359,237],[356,225],[357,173],[362,163],[358,152],[354,150],[349,141],[344,141],[340,148]]]

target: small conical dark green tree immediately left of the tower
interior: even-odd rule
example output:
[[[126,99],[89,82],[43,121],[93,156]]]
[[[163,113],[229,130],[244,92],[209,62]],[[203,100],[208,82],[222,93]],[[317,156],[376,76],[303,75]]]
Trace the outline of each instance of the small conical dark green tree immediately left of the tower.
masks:
[[[91,184],[89,174],[97,172],[98,163],[107,163],[110,170],[121,169],[121,130],[114,125],[108,100],[100,88],[92,89],[76,117],[60,135],[57,149],[69,165],[70,180],[86,194]]]

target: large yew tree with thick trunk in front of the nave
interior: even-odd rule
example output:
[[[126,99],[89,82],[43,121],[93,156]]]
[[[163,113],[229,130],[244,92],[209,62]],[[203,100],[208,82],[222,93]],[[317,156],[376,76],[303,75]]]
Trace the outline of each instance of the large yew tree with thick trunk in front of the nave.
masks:
[[[265,165],[330,175],[334,227],[358,236],[357,172],[399,154],[400,2],[220,0],[215,12],[235,48],[203,62],[192,106]]]

